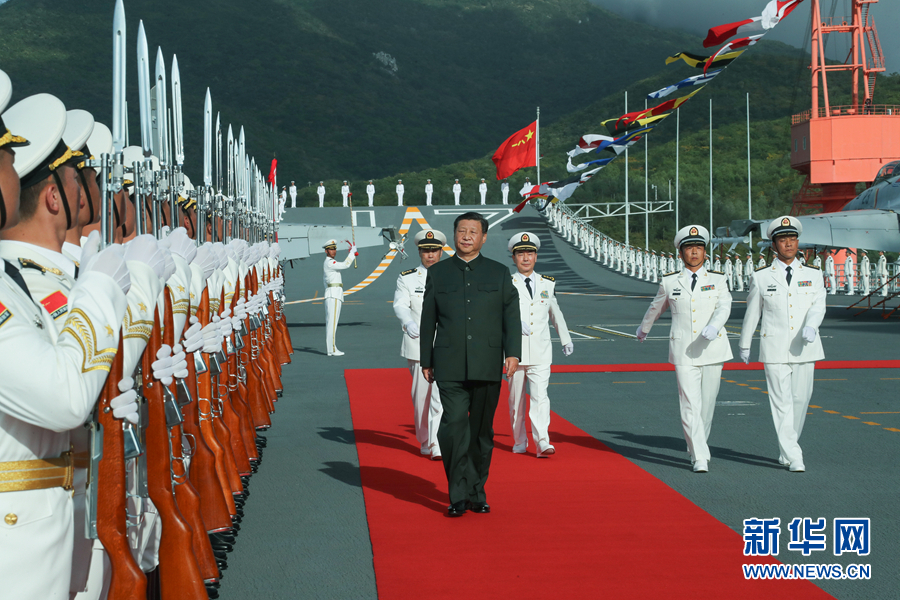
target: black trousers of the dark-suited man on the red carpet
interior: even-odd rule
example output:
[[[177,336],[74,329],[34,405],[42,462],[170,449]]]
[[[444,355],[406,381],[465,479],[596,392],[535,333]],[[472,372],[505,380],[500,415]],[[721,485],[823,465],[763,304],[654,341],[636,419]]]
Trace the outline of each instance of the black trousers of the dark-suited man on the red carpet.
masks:
[[[439,381],[444,414],[438,442],[450,489],[450,503],[485,502],[484,484],[494,451],[494,412],[499,381]]]

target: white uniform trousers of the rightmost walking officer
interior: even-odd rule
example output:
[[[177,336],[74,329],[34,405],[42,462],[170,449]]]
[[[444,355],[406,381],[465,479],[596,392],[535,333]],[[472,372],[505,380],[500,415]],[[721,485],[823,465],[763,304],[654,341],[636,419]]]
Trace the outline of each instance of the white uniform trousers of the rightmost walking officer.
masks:
[[[800,434],[812,397],[816,363],[766,363],[766,386],[781,457],[803,462]]]

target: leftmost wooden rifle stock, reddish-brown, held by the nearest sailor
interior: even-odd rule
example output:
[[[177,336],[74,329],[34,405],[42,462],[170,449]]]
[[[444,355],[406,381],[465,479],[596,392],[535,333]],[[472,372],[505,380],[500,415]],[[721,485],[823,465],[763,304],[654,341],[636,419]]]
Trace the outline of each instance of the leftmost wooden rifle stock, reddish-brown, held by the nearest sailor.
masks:
[[[147,577],[135,562],[128,545],[125,498],[125,436],[122,422],[113,416],[110,401],[119,395],[122,380],[123,338],[100,395],[97,421],[103,428],[103,458],[97,468],[97,537],[112,565],[109,600],[143,598]]]

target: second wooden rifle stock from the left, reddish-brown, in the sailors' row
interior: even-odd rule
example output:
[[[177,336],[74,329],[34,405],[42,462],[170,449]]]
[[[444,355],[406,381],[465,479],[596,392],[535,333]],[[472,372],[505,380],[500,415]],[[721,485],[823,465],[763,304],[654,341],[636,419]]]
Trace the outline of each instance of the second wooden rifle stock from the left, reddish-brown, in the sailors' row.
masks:
[[[181,516],[172,493],[172,461],[169,429],[166,425],[163,385],[153,379],[153,362],[162,345],[159,311],[155,311],[153,332],[142,358],[144,396],[147,398],[147,489],[159,511],[162,538],[159,546],[161,600],[205,599],[203,577],[193,556],[191,528]]]

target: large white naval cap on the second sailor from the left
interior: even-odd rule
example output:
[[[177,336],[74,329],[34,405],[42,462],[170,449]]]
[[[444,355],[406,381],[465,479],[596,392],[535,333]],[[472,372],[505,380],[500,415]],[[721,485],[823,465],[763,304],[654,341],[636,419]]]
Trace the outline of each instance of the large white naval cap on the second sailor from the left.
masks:
[[[31,144],[16,151],[16,172],[22,188],[31,187],[63,165],[84,160],[63,141],[66,129],[66,107],[50,94],[35,94],[20,100],[4,114],[9,127]]]

